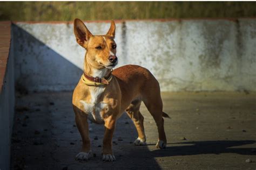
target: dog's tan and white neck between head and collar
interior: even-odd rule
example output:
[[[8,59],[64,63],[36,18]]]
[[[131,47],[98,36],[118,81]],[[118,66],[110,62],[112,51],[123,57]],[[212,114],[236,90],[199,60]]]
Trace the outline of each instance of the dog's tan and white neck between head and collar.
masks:
[[[86,58],[86,56],[85,56]],[[84,73],[87,75],[90,75],[92,77],[109,77],[111,74],[111,69],[109,68],[96,68],[92,65],[90,65],[89,62],[85,59],[84,61]]]

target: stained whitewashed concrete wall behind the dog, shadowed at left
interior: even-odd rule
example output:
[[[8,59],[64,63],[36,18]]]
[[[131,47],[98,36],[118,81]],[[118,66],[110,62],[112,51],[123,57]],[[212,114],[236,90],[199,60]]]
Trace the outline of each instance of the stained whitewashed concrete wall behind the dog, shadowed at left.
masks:
[[[162,91],[256,90],[256,19],[141,20],[116,23],[119,66],[135,64]],[[110,24],[90,22],[93,34]],[[16,81],[28,90],[72,90],[85,50],[72,23],[16,23]]]

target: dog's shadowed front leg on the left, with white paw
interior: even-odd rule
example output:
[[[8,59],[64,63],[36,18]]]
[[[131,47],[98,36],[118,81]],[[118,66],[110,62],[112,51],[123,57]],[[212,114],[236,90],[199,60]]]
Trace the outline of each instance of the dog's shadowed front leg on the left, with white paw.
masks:
[[[76,113],[76,125],[83,140],[82,152],[76,155],[76,160],[88,160],[91,157],[91,142],[87,115],[83,112]]]

